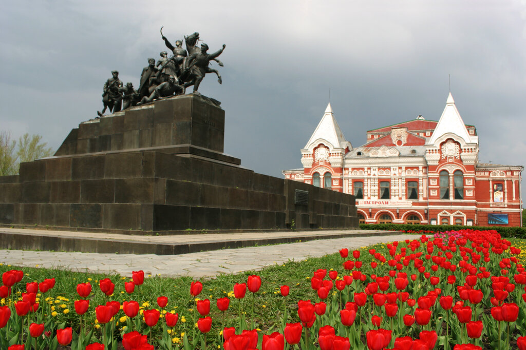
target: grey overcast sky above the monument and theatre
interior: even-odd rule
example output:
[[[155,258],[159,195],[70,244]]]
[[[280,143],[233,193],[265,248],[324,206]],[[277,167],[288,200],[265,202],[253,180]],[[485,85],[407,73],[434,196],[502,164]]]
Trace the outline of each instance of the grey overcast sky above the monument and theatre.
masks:
[[[347,140],[419,114],[449,92],[477,128],[479,160],[526,163],[525,1],[24,1],[0,12],[0,129],[54,150],[102,109],[120,71],[137,88],[148,57],[199,31],[215,51],[225,152],[258,173],[301,167],[329,101]],[[524,174],[523,174],[524,175]],[[523,189],[524,190],[524,189]],[[523,196],[524,197],[524,196]]]

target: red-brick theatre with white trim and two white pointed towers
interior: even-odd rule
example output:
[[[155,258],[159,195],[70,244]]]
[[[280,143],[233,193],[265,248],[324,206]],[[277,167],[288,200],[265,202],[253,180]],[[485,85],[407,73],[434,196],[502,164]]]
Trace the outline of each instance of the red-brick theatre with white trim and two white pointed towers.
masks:
[[[522,226],[522,165],[479,163],[479,138],[451,93],[439,121],[369,130],[353,148],[330,103],[285,178],[356,196],[361,223]]]

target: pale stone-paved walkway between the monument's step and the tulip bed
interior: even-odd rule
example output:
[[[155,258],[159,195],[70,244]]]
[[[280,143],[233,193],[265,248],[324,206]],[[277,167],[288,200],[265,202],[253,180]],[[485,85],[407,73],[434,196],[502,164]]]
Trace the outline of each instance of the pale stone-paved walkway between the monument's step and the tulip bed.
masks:
[[[356,249],[379,242],[418,237],[418,235],[349,237],[168,256],[0,250],[0,262],[12,266],[39,266],[81,272],[116,272],[124,276],[130,276],[131,271],[144,270],[145,273],[152,275],[172,277],[189,275],[200,278],[214,277],[222,273],[259,270],[288,260],[299,261],[309,257],[321,257],[337,252],[341,248]]]

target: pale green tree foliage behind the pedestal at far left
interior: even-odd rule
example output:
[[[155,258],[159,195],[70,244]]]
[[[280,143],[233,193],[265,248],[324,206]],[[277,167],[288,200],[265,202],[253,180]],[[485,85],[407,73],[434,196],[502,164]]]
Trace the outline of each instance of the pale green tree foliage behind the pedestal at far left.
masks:
[[[41,140],[41,135],[25,133],[17,142],[11,140],[10,132],[0,132],[0,176],[15,175],[20,163],[52,155],[53,150]]]

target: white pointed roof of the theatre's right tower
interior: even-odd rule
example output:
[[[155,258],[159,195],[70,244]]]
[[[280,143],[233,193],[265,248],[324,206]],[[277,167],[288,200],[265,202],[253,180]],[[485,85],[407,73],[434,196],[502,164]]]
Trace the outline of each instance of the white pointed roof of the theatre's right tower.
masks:
[[[438,124],[427,144],[434,144],[439,139],[439,137],[447,133],[452,133],[461,137],[466,143],[478,143],[477,136],[469,135],[466,124],[464,124],[464,121],[457,110],[457,106],[455,105],[455,101],[453,100],[451,92],[449,93],[448,99],[446,101],[446,108],[444,108],[444,111],[440,116],[440,120],[438,121]]]

